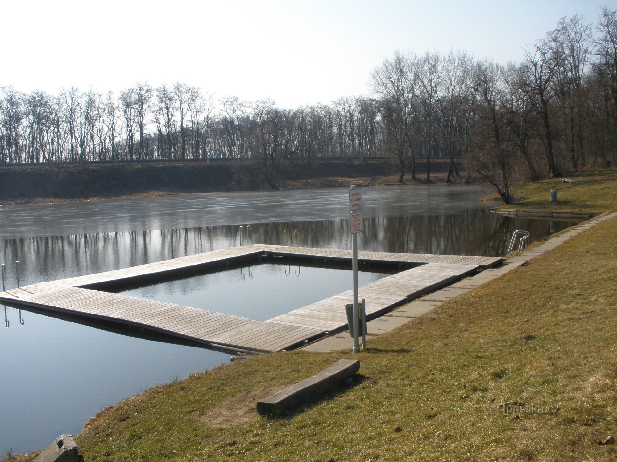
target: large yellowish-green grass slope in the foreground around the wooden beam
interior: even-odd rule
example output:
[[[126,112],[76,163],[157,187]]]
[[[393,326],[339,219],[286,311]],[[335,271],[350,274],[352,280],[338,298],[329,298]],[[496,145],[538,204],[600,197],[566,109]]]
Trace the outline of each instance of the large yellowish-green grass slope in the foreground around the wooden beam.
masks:
[[[615,460],[615,235],[611,219],[371,340],[354,384],[281,419],[255,400],[351,355],[197,373],[101,411],[78,444],[88,461]]]

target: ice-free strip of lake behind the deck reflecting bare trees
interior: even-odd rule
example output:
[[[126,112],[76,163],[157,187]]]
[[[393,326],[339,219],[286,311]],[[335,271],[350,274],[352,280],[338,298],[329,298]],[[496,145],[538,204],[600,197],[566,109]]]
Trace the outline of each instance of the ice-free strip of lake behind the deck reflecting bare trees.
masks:
[[[298,230],[302,245],[351,248],[349,220],[255,224],[251,241],[287,245],[284,229]],[[532,240],[564,229],[571,222],[512,219],[482,210],[464,214],[365,219],[360,249],[403,253],[503,255],[516,228]],[[7,287],[15,286],[14,262],[21,263],[23,284],[125,268],[238,245],[239,226],[24,238],[0,241],[0,262],[7,264]]]

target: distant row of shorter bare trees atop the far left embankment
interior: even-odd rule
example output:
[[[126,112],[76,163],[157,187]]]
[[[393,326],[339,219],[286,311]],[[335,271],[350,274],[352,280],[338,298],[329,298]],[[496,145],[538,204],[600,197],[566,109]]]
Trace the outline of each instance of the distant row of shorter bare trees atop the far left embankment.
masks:
[[[384,155],[375,103],[362,98],[288,110],[183,83],[136,83],[117,97],[2,87],[0,120],[0,163]]]

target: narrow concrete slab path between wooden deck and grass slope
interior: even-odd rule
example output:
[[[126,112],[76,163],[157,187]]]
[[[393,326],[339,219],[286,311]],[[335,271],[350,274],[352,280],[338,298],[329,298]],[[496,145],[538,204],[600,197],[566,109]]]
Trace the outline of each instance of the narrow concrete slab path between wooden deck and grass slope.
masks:
[[[606,221],[615,216],[617,216],[617,212],[613,212],[601,217],[596,217],[580,225],[571,227],[560,235],[550,238],[545,243],[542,243],[539,246],[523,251],[520,254],[511,257],[499,267],[484,270],[481,273],[476,274],[475,276],[466,278],[462,281],[442,288],[441,290],[425,295],[408,303],[407,305],[400,307],[399,309],[395,309],[394,311],[383,315],[382,317],[369,321],[368,323],[366,323],[366,329],[368,333],[366,339],[368,340],[370,338],[373,338],[373,336],[375,335],[383,334],[394,330],[395,328],[410,322],[416,317],[428,313],[430,310],[441,305],[442,303],[447,302],[460,294],[464,294],[470,290],[473,290],[474,288],[481,286],[484,283],[492,281],[493,279],[498,278],[501,275],[506,274],[507,272],[526,264],[532,258],[554,249],[558,245],[561,245],[561,243],[567,241],[569,238],[576,236],[597,225],[598,223]],[[360,340],[362,341],[362,339]],[[307,351],[329,352],[346,348],[351,349],[353,346],[354,339],[349,335],[349,331],[345,331],[337,335],[321,339],[320,341],[302,347],[302,349]]]

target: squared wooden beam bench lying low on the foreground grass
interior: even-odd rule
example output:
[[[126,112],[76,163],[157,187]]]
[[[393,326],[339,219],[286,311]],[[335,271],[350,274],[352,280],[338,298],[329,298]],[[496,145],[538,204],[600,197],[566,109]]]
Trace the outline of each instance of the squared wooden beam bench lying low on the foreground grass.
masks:
[[[329,368],[257,402],[260,415],[278,415],[347,380],[360,370],[357,359],[341,359]]]

